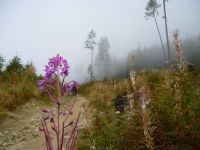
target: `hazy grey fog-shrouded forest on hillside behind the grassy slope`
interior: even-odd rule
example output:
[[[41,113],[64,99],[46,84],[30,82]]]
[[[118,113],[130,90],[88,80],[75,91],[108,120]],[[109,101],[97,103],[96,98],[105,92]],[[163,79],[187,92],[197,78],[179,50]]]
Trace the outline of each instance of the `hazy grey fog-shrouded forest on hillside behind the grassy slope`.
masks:
[[[101,42],[99,42],[101,43],[101,46],[99,46],[101,50],[98,49],[98,53],[95,59],[95,76],[97,77],[97,80],[107,79],[107,77],[109,77],[109,79],[128,78],[133,54],[135,55],[135,70],[167,67],[166,62],[164,61],[165,59],[163,57],[161,45],[154,45],[151,47],[138,46],[137,48],[130,50],[125,58],[117,58],[108,52],[109,47],[112,45],[108,42],[109,47],[108,45],[106,47],[107,42],[108,39],[103,39]],[[164,45],[164,47],[167,49],[167,45]],[[187,63],[194,65],[200,64],[200,39],[198,37],[185,38],[181,41],[181,48]],[[175,48],[173,43],[170,43],[170,50],[171,64],[175,65],[177,62],[175,58]],[[103,55],[104,53],[102,51],[105,52],[105,55]],[[105,56],[108,57],[106,58]],[[99,66],[97,65],[97,62]],[[109,65],[107,65],[108,62]]]

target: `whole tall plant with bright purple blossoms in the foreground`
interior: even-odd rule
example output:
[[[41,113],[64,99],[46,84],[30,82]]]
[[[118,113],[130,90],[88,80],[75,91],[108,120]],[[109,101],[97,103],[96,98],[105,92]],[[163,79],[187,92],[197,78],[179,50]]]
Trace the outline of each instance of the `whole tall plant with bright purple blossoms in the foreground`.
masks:
[[[65,79],[68,74],[67,60],[57,54],[57,56],[49,59],[45,66],[44,78],[38,81],[40,89],[48,95],[56,107],[55,110],[42,109],[43,117],[39,130],[44,133],[46,150],[73,150],[75,147],[80,112],[75,120],[70,120],[69,116],[73,115],[78,82],[70,81],[66,83]],[[70,92],[73,92],[75,99],[73,99],[71,106],[63,109],[61,102]],[[69,135],[68,139],[65,139],[65,135]]]

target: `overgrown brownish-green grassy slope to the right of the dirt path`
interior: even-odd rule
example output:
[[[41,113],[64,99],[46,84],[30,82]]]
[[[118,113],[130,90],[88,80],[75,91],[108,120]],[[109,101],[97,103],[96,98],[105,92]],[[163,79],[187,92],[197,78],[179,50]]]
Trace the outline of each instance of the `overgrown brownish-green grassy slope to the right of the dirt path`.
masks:
[[[137,73],[137,90],[150,91],[155,149],[200,149],[200,75],[167,70]],[[134,92],[134,114],[116,114],[111,99],[132,93],[129,80],[84,84],[80,92],[94,108],[93,121],[84,130],[79,149],[146,149],[138,91]]]

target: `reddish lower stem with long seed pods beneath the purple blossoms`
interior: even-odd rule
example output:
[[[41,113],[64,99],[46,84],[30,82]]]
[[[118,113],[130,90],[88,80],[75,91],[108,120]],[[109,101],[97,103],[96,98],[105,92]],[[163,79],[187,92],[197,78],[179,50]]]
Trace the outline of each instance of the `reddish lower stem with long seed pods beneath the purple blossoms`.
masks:
[[[62,123],[61,123],[61,114],[64,112],[61,111],[59,102],[57,103],[56,117],[53,112],[51,112],[49,110],[44,110],[44,112],[47,113],[48,115],[43,117],[41,125],[42,125],[42,131],[44,132],[44,136],[45,136],[47,150],[53,150],[53,144],[52,144],[52,140],[50,137],[50,134],[52,134],[52,133],[49,131],[49,129],[47,127],[46,120],[51,118],[51,121],[50,121],[52,123],[51,128],[56,133],[56,138],[57,138],[57,150],[62,150],[63,145],[64,145],[65,128],[67,128],[73,124],[73,121],[69,122],[68,124],[66,124],[66,121],[68,120],[69,115],[72,115],[72,112],[70,112],[70,111],[72,111],[71,109],[73,109],[75,103],[76,103],[76,98],[73,100],[73,103],[68,108],[68,110],[67,110],[68,113],[63,118]],[[77,119],[75,120],[75,124],[71,131],[70,138],[67,140],[66,148],[68,150],[74,149],[74,146],[75,146],[75,143],[77,140],[77,125],[78,125],[79,119],[80,119],[80,112],[78,114]]]

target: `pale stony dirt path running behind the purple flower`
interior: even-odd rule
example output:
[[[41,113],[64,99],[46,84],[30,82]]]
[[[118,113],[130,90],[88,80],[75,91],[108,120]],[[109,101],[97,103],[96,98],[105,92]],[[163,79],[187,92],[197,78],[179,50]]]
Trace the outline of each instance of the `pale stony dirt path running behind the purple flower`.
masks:
[[[67,104],[64,104],[66,106]],[[0,124],[0,150],[44,150],[43,133],[38,131],[44,102],[31,100],[12,114],[13,118]],[[78,97],[74,112],[81,112],[79,126],[88,126],[85,108],[87,101]],[[77,115],[76,113],[74,114]]]

